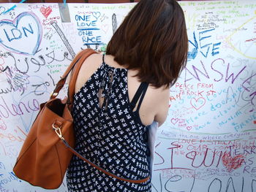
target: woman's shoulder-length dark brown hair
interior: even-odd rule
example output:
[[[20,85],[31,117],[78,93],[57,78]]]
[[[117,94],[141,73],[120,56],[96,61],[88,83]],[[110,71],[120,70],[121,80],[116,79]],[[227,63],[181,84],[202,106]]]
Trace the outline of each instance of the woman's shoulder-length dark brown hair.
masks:
[[[108,43],[106,54],[140,82],[156,88],[173,85],[187,63],[184,12],[176,0],[140,0]]]

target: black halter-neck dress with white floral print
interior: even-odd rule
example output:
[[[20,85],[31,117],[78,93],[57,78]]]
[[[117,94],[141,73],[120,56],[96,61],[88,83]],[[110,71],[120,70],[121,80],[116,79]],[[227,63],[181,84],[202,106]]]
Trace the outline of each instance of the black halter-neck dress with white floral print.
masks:
[[[102,93],[99,92],[102,90]],[[99,94],[104,97],[99,105]],[[130,180],[148,177],[146,126],[132,112],[127,89],[127,69],[103,61],[75,93],[73,105],[75,149],[94,164]],[[110,177],[73,156],[67,170],[69,191],[149,192],[151,181],[128,183]]]

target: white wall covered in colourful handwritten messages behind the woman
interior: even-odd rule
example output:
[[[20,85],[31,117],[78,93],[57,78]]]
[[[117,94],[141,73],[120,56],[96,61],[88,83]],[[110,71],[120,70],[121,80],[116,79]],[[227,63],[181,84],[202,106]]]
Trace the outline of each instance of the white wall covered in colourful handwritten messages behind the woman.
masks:
[[[180,4],[188,63],[158,130],[152,191],[256,191],[255,1]],[[75,53],[104,52],[134,5],[0,4],[1,191],[45,191],[12,172],[39,104]]]

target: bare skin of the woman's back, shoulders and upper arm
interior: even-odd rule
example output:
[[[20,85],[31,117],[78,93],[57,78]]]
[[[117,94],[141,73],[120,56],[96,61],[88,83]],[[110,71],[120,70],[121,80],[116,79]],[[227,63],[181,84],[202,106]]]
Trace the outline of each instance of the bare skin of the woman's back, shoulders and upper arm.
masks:
[[[108,66],[113,66],[114,68],[125,69],[125,66],[119,65],[113,60],[112,55],[105,55],[105,63],[108,64]],[[78,74],[75,92],[80,90],[89,77],[97,71],[101,64],[102,55],[100,54],[93,54],[86,59]],[[138,80],[138,77],[135,77],[135,74],[137,74],[137,71],[133,69],[130,69],[127,72],[129,101],[132,101],[132,98],[135,96],[135,93],[141,83]],[[102,102],[103,98],[99,98],[99,101]],[[154,88],[149,85],[139,111],[140,120],[143,125],[148,126],[155,120],[159,123],[159,126],[161,126],[167,115],[168,102],[169,88]],[[136,107],[134,110],[136,110]]]

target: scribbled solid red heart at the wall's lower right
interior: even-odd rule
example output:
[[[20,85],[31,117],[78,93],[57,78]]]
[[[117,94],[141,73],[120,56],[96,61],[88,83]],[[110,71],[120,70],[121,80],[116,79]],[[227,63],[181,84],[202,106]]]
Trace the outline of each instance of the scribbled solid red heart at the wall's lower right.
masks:
[[[240,166],[242,166],[243,160],[243,155],[231,157],[230,153],[225,152],[222,156],[222,163],[227,168],[227,172],[232,172],[233,169],[238,169]]]

